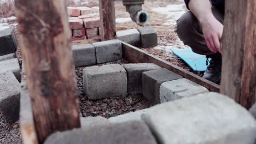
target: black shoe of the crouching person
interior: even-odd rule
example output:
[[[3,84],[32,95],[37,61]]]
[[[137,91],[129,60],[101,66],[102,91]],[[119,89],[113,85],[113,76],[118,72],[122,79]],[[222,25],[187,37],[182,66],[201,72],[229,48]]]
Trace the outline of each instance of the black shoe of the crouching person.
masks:
[[[217,52],[214,55],[206,56],[206,58],[206,65],[208,67],[203,74],[203,78],[219,85],[222,77],[222,55]],[[211,58],[211,61],[208,58]]]

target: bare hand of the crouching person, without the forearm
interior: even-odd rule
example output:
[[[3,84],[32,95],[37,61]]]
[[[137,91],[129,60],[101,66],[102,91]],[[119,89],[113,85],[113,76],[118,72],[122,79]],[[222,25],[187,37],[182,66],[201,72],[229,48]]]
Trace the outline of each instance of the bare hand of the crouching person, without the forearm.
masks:
[[[220,52],[223,25],[212,15],[201,21],[203,36],[212,52]]]

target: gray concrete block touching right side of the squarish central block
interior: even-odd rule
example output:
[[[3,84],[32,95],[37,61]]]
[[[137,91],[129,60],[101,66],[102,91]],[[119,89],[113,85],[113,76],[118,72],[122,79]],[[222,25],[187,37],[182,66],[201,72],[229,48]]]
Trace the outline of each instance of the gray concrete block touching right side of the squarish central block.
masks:
[[[153,63],[131,63],[123,67],[127,71],[129,94],[142,94],[142,72],[161,68]]]

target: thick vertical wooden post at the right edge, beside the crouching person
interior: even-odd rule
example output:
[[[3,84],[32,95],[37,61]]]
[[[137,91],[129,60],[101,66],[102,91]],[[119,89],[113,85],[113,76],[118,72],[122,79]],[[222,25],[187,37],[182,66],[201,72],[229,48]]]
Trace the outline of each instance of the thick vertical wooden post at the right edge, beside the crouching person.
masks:
[[[226,0],[220,93],[249,109],[256,97],[256,1]]]

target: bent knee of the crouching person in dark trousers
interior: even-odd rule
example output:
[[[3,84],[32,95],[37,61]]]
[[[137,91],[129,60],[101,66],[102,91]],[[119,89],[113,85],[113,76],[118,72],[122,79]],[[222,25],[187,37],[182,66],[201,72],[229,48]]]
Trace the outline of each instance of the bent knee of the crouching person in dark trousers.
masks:
[[[175,27],[175,32],[178,34],[179,38],[183,41],[183,43],[187,43],[186,41],[189,38],[191,31],[193,31],[193,22],[195,21],[195,16],[188,11],[183,14],[181,18],[177,20],[177,24]]]

